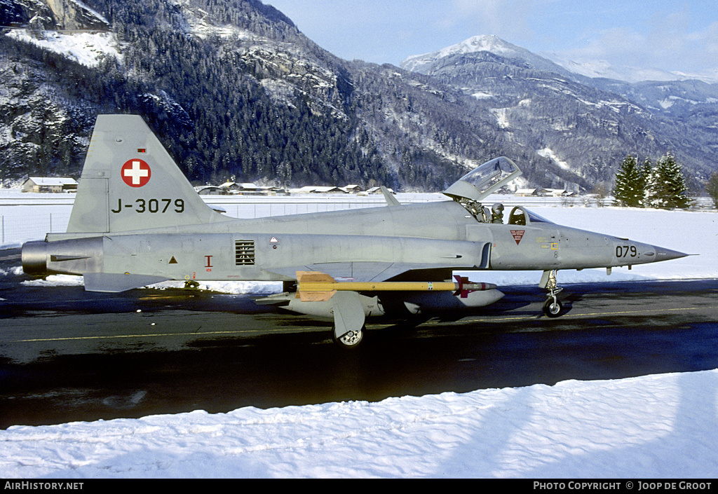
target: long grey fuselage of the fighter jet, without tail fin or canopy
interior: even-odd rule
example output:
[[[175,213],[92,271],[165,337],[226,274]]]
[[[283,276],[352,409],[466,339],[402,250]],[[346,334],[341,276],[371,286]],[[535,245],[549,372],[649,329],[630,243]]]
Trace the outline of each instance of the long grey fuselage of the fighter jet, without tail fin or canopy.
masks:
[[[393,279],[406,269],[546,271],[626,266],[663,260],[671,252],[601,233],[536,223],[517,209],[511,218],[523,215],[525,224],[481,223],[459,202],[442,201],[255,220],[223,218],[205,225],[90,238],[81,233],[49,234],[49,242],[43,244],[50,251],[43,257],[51,273],[290,281],[296,278],[297,266],[323,267],[346,279],[370,269],[376,276],[365,279]]]

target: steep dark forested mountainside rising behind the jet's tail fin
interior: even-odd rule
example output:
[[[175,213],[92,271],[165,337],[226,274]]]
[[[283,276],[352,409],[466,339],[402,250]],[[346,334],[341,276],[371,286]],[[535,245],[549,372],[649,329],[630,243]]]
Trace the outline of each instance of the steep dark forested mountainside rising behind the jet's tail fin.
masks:
[[[22,19],[45,4],[2,1],[29,9]],[[543,158],[493,144],[493,118],[473,98],[391,65],[340,60],[257,0],[85,3],[111,32],[0,36],[0,178],[77,175],[94,116],[122,112],[144,116],[197,182],[443,190],[500,154],[544,180]]]

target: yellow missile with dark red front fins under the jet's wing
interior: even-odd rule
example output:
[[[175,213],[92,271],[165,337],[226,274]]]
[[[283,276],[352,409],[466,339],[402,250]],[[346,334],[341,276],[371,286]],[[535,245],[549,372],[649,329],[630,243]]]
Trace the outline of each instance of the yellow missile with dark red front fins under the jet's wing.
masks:
[[[465,298],[469,292],[495,289],[491,283],[457,281],[336,281],[321,271],[297,271],[297,297],[303,302],[329,300],[336,292],[457,292]]]

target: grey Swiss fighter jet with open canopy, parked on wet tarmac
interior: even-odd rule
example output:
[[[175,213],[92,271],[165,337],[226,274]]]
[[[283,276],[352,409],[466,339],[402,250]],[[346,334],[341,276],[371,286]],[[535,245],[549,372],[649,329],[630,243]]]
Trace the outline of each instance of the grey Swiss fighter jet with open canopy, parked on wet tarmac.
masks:
[[[140,116],[98,116],[67,233],[22,247],[27,274],[75,274],[85,290],[123,292],[159,281],[284,281],[259,299],[333,320],[356,347],[365,317],[483,307],[495,284],[454,271],[536,270],[544,312],[558,317],[559,269],[607,268],[686,256],[647,243],[556,225],[523,207],[482,205],[521,175],[499,157],[449,187],[448,199],[361,210],[228,218],[206,205]]]

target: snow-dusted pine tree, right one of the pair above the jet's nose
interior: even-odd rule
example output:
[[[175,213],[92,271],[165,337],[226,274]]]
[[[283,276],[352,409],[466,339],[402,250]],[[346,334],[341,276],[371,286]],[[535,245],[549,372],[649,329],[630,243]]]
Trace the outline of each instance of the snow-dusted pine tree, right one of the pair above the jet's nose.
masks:
[[[648,174],[645,204],[662,209],[687,208],[686,190],[688,186],[682,167],[671,152],[668,152],[658,160],[656,167],[653,167]]]

